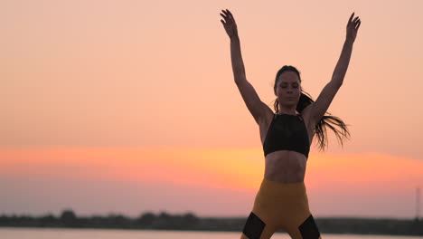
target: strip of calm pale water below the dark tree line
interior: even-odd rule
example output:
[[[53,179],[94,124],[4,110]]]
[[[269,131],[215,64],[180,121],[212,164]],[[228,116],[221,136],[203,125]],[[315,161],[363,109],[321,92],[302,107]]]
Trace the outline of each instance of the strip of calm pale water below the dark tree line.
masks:
[[[239,239],[240,233],[219,232],[181,232],[153,230],[103,230],[103,229],[43,229],[0,227],[2,239]],[[273,234],[272,239],[290,239],[287,234]],[[356,235],[356,234],[322,234],[324,239],[414,239],[423,236],[390,236],[390,235]]]

